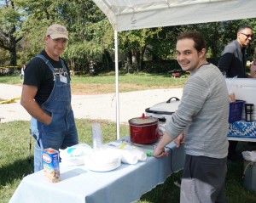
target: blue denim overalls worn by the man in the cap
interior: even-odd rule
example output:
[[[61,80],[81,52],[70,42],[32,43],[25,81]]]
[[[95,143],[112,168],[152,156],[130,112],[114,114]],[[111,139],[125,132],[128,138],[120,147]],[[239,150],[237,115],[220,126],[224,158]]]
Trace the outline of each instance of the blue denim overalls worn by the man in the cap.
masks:
[[[64,71],[56,73],[48,59],[41,54],[36,57],[43,59],[49,69],[52,70],[55,84],[49,98],[41,106],[52,117],[51,122],[49,125],[44,125],[44,123],[37,121],[33,117],[31,120],[32,135],[37,140],[34,145],[34,172],[43,169],[42,149],[66,149],[79,143],[71,108],[71,89],[67,68],[61,59]]]

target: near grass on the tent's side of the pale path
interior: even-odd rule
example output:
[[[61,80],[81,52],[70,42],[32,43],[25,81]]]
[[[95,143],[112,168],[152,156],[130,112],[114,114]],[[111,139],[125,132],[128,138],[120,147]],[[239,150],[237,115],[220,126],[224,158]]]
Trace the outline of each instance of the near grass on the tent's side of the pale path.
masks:
[[[80,143],[91,145],[91,124],[99,122],[102,127],[103,142],[107,143],[116,138],[115,123],[108,121],[76,120]],[[0,123],[0,202],[9,202],[22,178],[32,173],[33,151],[29,150],[30,135],[29,121],[12,121]],[[129,133],[127,125],[120,126],[120,137]],[[33,140],[32,140],[33,142]],[[253,146],[250,146],[253,149]],[[254,146],[254,149],[256,147]],[[240,143],[239,150],[248,149],[245,143]],[[231,203],[256,202],[256,193],[243,188],[243,162],[241,155],[237,161],[228,166],[226,178],[226,196]],[[166,182],[158,185],[142,196],[140,203],[179,202],[179,188],[174,182],[181,177],[182,172],[172,174]]]

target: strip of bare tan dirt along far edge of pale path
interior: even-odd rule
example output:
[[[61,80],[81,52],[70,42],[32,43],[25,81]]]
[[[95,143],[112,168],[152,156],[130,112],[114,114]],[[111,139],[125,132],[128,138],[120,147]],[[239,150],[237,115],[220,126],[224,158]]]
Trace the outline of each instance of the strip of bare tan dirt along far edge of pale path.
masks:
[[[166,89],[166,88],[180,88],[182,86],[142,86],[137,84],[120,84],[119,93],[127,93],[132,91],[146,90],[146,89]],[[90,84],[78,83],[71,84],[71,91],[74,95],[96,95],[102,93],[115,93],[115,84]]]

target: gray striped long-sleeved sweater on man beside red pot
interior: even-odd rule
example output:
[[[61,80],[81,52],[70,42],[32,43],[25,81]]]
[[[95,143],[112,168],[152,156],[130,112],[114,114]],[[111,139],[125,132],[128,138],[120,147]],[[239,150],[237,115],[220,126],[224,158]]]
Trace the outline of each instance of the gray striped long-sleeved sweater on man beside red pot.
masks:
[[[187,155],[224,158],[228,155],[229,94],[224,76],[212,64],[191,72],[183,97],[166,133],[177,138],[185,133]]]

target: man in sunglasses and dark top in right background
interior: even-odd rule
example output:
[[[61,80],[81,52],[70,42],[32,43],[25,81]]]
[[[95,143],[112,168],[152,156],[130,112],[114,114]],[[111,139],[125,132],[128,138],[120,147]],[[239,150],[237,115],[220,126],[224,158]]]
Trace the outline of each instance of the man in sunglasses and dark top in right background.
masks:
[[[218,61],[218,68],[226,77],[247,78],[251,77],[246,72],[245,49],[253,39],[253,28],[241,25],[237,30],[236,40],[230,42],[225,48]],[[230,141],[228,160],[236,157],[237,141]]]

